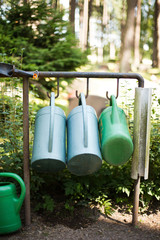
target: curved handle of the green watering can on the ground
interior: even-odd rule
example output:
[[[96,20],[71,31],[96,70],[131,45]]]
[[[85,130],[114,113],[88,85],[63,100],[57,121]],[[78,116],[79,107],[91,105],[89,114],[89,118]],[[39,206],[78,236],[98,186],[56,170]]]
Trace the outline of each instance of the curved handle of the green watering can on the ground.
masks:
[[[20,194],[20,197],[18,198],[18,201],[16,201],[16,212],[18,213],[20,211],[20,208],[22,206],[22,203],[23,203],[23,200],[24,200],[24,197],[25,197],[25,194],[26,194],[26,186],[25,186],[23,180],[20,176],[18,176],[15,173],[7,173],[7,172],[0,173],[0,177],[14,178],[20,184],[21,194]]]

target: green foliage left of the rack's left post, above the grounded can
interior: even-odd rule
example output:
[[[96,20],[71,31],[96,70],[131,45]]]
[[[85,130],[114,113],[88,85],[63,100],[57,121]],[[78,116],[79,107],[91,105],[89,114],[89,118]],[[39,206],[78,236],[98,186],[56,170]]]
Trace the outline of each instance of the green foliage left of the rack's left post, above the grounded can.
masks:
[[[15,87],[17,82],[18,80],[14,82]],[[23,111],[22,102],[19,99],[19,95],[15,95],[13,100],[7,95],[1,95],[0,98],[0,168],[21,173]]]

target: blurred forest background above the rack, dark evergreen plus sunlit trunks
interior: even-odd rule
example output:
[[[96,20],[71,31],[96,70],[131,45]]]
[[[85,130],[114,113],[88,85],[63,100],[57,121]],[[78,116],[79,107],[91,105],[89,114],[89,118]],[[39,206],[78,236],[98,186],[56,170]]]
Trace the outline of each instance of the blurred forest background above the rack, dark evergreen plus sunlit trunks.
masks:
[[[13,0],[1,1],[0,12],[0,61],[72,71],[89,54],[121,72],[160,68],[160,0]]]

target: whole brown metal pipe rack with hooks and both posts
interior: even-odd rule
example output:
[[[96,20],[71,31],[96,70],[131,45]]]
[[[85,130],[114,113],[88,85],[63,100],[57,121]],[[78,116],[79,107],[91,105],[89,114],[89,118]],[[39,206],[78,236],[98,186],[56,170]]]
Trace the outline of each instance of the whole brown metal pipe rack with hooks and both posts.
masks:
[[[26,185],[26,197],[25,197],[25,224],[31,223],[31,208],[30,208],[30,169],[29,169],[29,78],[57,78],[57,95],[59,96],[59,78],[86,78],[87,79],[87,92],[89,92],[89,80],[92,78],[116,78],[117,79],[117,94],[119,95],[119,79],[138,80],[138,87],[144,88],[144,79],[137,73],[99,73],[99,72],[38,72],[37,70],[22,71],[16,69],[14,65],[0,63],[0,77],[20,77],[23,78],[23,171],[24,182]],[[49,96],[49,94],[48,94]],[[78,91],[76,91],[76,97],[78,98]],[[106,92],[108,99],[108,92]],[[133,203],[133,225],[138,221],[138,207],[139,207],[139,188],[140,177],[135,180],[134,184],[134,203]]]

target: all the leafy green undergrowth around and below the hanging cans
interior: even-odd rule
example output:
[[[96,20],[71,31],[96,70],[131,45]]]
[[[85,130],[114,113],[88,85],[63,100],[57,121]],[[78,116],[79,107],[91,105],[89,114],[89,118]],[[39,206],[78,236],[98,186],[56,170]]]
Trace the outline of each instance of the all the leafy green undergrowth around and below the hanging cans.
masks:
[[[6,89],[9,84],[6,81]],[[19,85],[14,81],[14,90]],[[18,89],[19,91],[19,89]],[[11,94],[11,93],[10,93]],[[12,94],[13,95],[13,94]],[[4,94],[0,98],[0,170],[16,172],[23,175],[23,136],[22,136],[22,100],[21,92],[14,92],[14,97]],[[128,103],[124,107],[133,107]],[[40,106],[30,104],[30,152],[32,152],[35,114]],[[41,106],[42,107],[42,106]],[[149,179],[142,180],[140,189],[140,206],[146,209],[160,199],[160,112],[159,99],[153,95],[152,131],[150,147]],[[131,113],[129,112],[131,115]],[[132,120],[131,120],[132,121]],[[132,132],[133,123],[130,123]],[[104,212],[112,212],[112,204],[133,203],[133,183],[130,177],[131,159],[124,165],[115,167],[103,162],[101,169],[95,174],[78,177],[67,169],[57,174],[36,173],[31,169],[31,196],[36,210],[44,209],[53,212],[59,202],[64,208],[73,212],[77,205],[98,204]],[[38,204],[37,204],[38,203]]]

